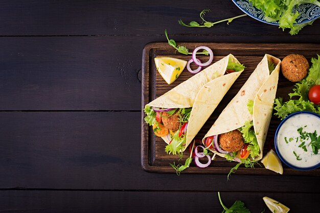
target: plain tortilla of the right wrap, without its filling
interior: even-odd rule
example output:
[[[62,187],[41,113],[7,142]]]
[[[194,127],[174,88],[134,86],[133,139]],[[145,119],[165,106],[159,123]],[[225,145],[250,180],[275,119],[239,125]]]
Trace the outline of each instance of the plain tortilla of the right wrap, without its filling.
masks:
[[[275,69],[269,72],[268,60],[275,64]],[[254,131],[260,148],[260,155],[255,159],[262,158],[263,146],[268,132],[272,115],[273,102],[276,98],[281,60],[266,54],[257,68],[241,87],[236,96],[221,112],[218,119],[202,139],[213,135],[230,132],[244,126],[246,121],[253,121]],[[248,111],[248,100],[254,101],[253,114]],[[225,154],[214,153],[224,157]]]

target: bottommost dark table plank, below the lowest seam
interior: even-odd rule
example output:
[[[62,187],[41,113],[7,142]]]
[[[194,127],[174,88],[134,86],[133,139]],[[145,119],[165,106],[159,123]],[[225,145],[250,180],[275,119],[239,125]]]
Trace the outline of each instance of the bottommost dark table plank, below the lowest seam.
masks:
[[[270,212],[263,197],[287,205],[290,213],[317,212],[319,194],[220,193],[223,204],[241,200],[251,212]],[[0,191],[0,212],[222,212],[217,192]],[[305,201],[302,201],[301,198]],[[129,206],[128,203],[131,205]]]

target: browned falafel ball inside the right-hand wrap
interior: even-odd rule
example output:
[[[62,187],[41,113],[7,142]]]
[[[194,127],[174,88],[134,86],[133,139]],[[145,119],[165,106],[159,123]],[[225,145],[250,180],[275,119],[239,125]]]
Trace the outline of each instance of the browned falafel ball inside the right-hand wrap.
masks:
[[[239,151],[244,145],[242,133],[236,129],[230,132],[220,134],[219,145],[224,151]]]

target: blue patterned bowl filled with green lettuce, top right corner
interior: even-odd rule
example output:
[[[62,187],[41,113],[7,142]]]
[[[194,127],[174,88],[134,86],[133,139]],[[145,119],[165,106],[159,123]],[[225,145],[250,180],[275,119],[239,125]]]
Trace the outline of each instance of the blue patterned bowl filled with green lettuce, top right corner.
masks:
[[[295,35],[320,17],[317,0],[232,0],[244,13]]]

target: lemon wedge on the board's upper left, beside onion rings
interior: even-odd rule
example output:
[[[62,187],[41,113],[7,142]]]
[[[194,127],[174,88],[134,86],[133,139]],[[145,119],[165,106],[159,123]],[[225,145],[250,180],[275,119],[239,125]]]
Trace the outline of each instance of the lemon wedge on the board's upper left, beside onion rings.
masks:
[[[159,74],[168,84],[174,82],[187,65],[187,61],[172,57],[156,57],[154,62]]]

